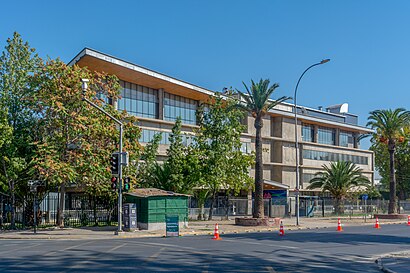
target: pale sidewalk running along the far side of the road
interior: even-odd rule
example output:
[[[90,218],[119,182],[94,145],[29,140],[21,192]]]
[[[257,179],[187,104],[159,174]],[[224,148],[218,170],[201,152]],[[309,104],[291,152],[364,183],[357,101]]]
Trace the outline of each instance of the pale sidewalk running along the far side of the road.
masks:
[[[358,226],[358,225],[374,225],[374,219],[367,219],[364,223],[363,218],[341,218],[343,227]],[[337,218],[301,218],[300,226],[295,225],[295,218],[283,219],[285,230],[296,229],[319,229],[319,228],[335,228],[337,227]],[[278,231],[279,227],[249,227],[237,226],[235,220],[221,220],[221,221],[191,221],[189,227],[180,230],[181,236],[194,235],[212,235],[215,223],[219,224],[220,234],[229,233],[252,233],[252,232],[266,232]],[[405,221],[387,221],[381,222],[385,224],[403,224]],[[163,237],[165,230],[147,231],[138,230],[135,232],[123,232],[120,235],[115,235],[115,226],[110,227],[84,227],[84,228],[48,228],[39,229],[37,234],[33,230],[23,231],[0,231],[0,239],[65,239],[65,240],[79,240],[79,239],[115,239],[115,238],[142,238],[142,237]]]

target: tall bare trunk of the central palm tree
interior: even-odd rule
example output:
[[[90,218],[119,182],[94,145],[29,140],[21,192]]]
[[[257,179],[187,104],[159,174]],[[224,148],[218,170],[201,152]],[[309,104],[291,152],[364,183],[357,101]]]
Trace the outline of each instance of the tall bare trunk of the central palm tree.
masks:
[[[262,161],[262,116],[258,115],[255,118],[255,207],[253,208],[254,218],[263,218],[263,161]]]

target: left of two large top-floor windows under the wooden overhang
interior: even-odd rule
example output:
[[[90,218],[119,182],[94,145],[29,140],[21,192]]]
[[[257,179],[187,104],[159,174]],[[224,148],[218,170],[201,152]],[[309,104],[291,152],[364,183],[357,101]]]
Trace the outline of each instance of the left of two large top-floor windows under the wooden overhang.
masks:
[[[158,118],[158,90],[124,81],[120,84],[118,110],[138,117]]]

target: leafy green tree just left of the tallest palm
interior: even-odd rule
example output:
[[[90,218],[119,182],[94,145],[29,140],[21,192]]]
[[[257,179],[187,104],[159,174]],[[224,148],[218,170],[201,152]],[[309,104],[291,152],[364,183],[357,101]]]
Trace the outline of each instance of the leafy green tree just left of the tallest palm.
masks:
[[[217,193],[249,188],[251,178],[249,168],[253,155],[241,152],[241,133],[244,113],[234,107],[238,101],[217,95],[210,99],[207,111],[199,115],[199,129],[196,132],[196,158],[200,162],[197,170],[198,181],[209,190],[211,207],[208,219],[212,220],[213,206]]]

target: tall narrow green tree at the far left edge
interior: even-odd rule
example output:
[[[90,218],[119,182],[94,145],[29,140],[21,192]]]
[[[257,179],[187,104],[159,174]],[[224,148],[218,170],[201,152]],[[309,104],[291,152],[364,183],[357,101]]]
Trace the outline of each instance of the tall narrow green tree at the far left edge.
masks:
[[[37,117],[32,111],[36,95],[33,75],[41,59],[20,34],[7,39],[0,57],[0,145],[1,180],[11,196],[11,228],[15,227],[16,193],[24,195],[29,175],[29,162],[34,156],[33,142],[38,137]],[[22,197],[22,196],[21,196]]]

